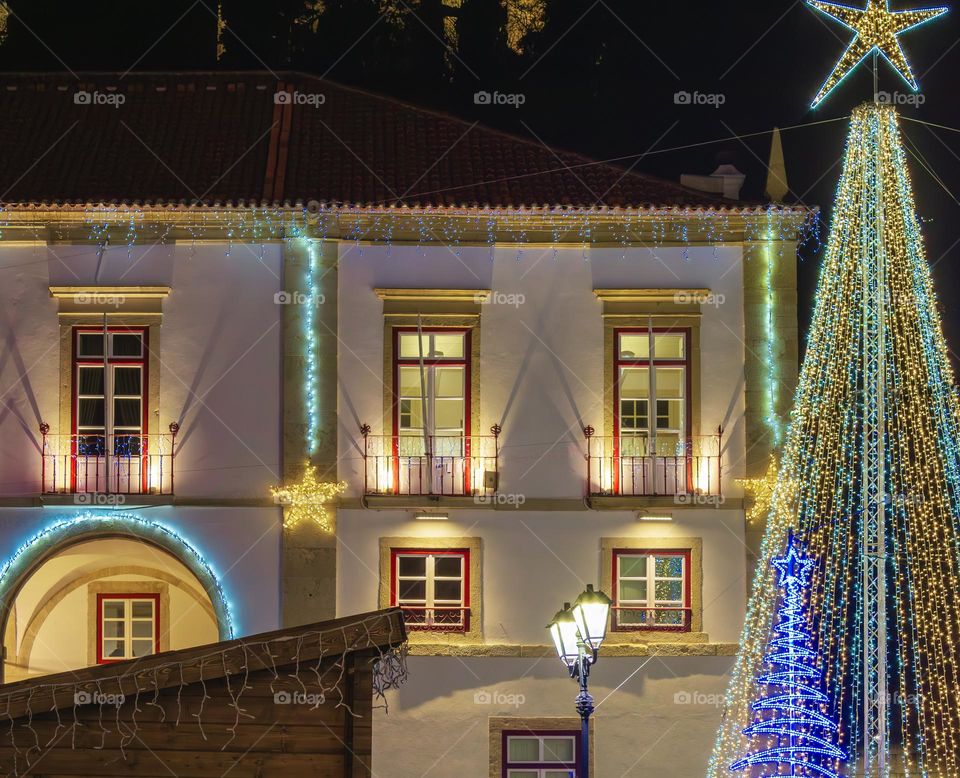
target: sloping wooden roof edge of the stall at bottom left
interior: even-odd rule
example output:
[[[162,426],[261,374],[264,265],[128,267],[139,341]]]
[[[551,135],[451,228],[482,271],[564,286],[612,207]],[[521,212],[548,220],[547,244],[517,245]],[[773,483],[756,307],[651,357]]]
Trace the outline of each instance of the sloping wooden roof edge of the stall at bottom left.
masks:
[[[347,653],[387,653],[406,641],[399,608],[290,627],[140,659],[37,676],[0,685],[6,720],[73,708],[76,694],[154,692],[230,675],[335,659]],[[215,657],[213,661],[211,657]]]

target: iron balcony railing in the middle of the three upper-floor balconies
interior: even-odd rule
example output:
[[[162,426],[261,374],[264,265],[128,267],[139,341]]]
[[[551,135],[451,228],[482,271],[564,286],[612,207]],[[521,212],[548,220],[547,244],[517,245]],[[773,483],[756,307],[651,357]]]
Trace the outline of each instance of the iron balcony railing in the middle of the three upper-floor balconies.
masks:
[[[492,435],[371,435],[364,425],[364,493],[469,497],[496,492],[500,428]]]

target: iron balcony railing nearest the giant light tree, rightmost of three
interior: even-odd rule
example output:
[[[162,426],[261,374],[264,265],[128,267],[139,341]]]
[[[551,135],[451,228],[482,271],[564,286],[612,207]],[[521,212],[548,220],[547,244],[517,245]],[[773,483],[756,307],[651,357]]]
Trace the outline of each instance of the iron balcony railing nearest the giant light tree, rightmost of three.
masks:
[[[587,438],[587,488],[591,497],[719,496],[721,435],[688,440],[645,435]],[[682,502],[678,500],[678,503]]]

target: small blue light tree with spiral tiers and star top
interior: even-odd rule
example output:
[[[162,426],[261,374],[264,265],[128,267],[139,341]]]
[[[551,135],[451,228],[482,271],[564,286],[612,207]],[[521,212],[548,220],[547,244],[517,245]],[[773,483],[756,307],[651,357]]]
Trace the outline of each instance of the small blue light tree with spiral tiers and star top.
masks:
[[[775,772],[764,774],[838,778],[837,769],[848,757],[836,743],[839,727],[827,715],[830,698],[821,690],[823,673],[805,613],[814,562],[791,532],[786,555],[771,564],[780,573],[784,593],[766,656],[770,671],[757,679],[769,692],[753,703],[757,718],[743,730],[748,737],[763,738],[764,746],[730,769],[776,765]]]

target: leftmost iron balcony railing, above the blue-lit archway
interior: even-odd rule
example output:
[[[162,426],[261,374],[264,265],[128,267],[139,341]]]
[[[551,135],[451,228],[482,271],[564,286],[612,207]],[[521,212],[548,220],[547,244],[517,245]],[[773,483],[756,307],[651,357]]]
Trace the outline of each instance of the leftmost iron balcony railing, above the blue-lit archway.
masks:
[[[43,494],[173,494],[176,422],[163,435],[49,430],[40,425]]]

